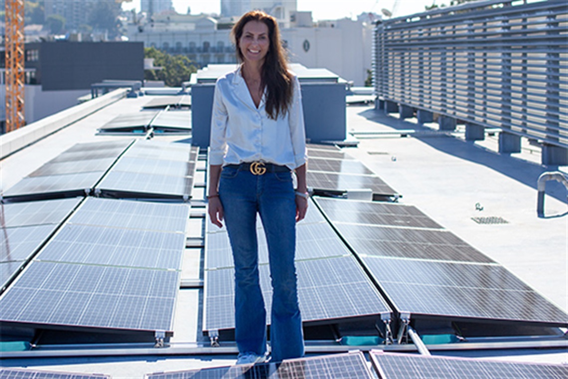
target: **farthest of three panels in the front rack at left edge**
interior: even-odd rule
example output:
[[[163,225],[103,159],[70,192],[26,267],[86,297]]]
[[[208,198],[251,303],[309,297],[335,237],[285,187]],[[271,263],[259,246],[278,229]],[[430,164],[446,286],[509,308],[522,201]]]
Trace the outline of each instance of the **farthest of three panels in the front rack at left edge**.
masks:
[[[59,224],[82,198],[0,204],[3,226]]]

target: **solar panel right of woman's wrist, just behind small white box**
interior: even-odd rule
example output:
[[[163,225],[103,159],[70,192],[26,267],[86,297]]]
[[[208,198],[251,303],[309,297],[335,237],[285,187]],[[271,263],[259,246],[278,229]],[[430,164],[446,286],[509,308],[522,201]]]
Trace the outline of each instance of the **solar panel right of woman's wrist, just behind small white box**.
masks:
[[[346,192],[370,189],[373,194],[394,196],[396,192],[378,176],[335,174],[330,172],[306,172],[308,187],[318,191]]]

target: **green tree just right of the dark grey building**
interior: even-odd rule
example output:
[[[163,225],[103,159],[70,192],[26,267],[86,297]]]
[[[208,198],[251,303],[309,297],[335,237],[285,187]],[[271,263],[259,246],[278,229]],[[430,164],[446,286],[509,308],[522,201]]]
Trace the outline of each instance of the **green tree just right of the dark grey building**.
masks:
[[[144,57],[153,58],[154,66],[161,70],[144,70],[145,80],[163,80],[166,86],[179,87],[182,82],[189,80],[191,73],[197,68],[185,55],[169,55],[154,47],[144,48]]]

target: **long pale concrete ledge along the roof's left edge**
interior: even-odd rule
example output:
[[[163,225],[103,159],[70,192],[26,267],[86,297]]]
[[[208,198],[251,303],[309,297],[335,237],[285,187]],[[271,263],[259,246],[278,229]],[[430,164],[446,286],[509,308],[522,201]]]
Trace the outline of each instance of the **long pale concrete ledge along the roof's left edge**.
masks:
[[[114,103],[126,96],[128,89],[117,89],[101,97],[78,104],[61,112],[37,120],[18,130],[0,136],[0,159],[39,141],[56,131]]]

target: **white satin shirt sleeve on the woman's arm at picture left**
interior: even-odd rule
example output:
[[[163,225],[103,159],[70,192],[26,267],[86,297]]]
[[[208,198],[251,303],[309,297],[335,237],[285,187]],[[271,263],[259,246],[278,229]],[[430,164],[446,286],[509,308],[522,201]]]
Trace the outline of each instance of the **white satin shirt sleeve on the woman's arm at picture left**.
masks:
[[[211,131],[209,136],[209,164],[223,164],[223,157],[227,151],[225,134],[227,131],[227,109],[223,104],[222,88],[217,81],[213,97],[213,110],[211,113]]]

